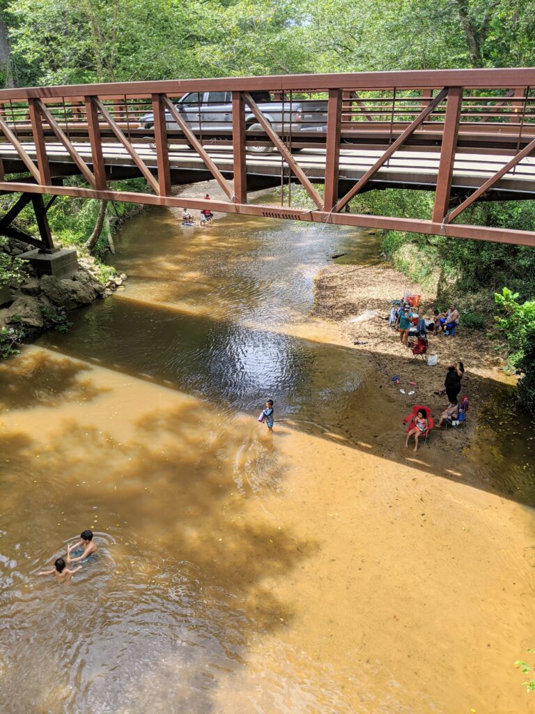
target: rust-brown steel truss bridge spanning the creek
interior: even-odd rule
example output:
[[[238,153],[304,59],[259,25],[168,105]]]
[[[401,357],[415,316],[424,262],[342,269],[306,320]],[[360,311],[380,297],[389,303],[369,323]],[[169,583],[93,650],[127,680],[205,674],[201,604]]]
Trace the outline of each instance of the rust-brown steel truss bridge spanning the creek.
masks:
[[[173,186],[215,179],[225,200],[188,197],[188,208],[535,246],[535,226],[519,231],[463,221],[477,201],[535,197],[534,86],[529,68],[4,89],[0,191],[21,196],[0,218],[0,233],[53,251],[46,211],[56,196],[183,206]],[[209,119],[194,127],[175,108],[185,92],[206,91],[225,92],[231,103],[227,130]],[[290,116],[292,104],[306,106],[308,99],[325,99],[326,110],[301,131],[295,124],[275,131],[255,91],[269,91]],[[250,133],[246,107],[261,131]],[[139,119],[148,111],[154,125],[143,129]],[[169,117],[176,129],[168,128]],[[136,176],[146,179],[146,193],[108,185]],[[305,189],[312,208],[248,203],[248,191],[291,183]],[[322,193],[318,183],[325,184]],[[350,211],[358,193],[389,187],[434,191],[432,215]],[[46,202],[44,194],[51,196]],[[12,225],[30,202],[39,239]]]

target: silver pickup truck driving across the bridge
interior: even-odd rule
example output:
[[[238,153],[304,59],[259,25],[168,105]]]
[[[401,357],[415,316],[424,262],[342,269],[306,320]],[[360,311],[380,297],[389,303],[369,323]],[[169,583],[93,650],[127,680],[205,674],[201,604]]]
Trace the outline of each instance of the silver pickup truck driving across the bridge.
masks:
[[[270,93],[267,91],[253,91],[251,96],[258,108],[263,113],[267,121],[278,134],[292,131],[325,131],[327,124],[327,101],[322,99],[295,100],[290,103],[289,99],[282,101],[271,101]],[[218,131],[228,134],[232,130],[232,92],[230,91],[206,91],[190,92],[180,97],[175,104],[180,115],[187,121],[192,131],[202,131],[207,134],[216,135]],[[169,130],[180,131],[180,127],[173,121],[173,117],[168,112],[165,113],[166,126]],[[145,114],[139,119],[143,129],[153,129],[153,114]],[[250,107],[245,104],[245,126],[248,133],[253,136],[260,136],[265,139],[262,126],[258,124]],[[266,153],[272,151],[272,146],[267,142],[258,146],[249,146],[249,151]]]

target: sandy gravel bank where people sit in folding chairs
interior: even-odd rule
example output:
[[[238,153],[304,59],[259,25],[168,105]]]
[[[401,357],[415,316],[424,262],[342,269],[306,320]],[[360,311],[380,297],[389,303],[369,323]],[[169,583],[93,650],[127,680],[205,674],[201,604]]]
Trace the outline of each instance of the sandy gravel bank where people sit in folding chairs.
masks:
[[[422,288],[399,271],[380,263],[375,266],[331,265],[316,278],[316,300],[313,315],[334,321],[353,348],[366,353],[377,368],[379,380],[390,396],[402,402],[409,413],[412,405],[424,403],[437,418],[444,408],[445,398],[434,394],[444,384],[445,370],[455,361],[462,361],[465,374],[463,394],[473,406],[484,401],[489,381],[511,383],[501,368],[504,361],[496,353],[496,345],[484,331],[457,328],[454,337],[444,334],[428,336],[428,355],[437,355],[437,366],[428,366],[399,341],[399,333],[389,327],[392,300],[404,293],[422,297],[419,312],[430,318],[436,305],[436,293]],[[462,306],[461,306],[462,314]],[[357,343],[357,344],[355,344]],[[398,386],[392,377],[398,375]],[[411,384],[414,382],[415,384]],[[414,393],[409,395],[409,392]],[[474,433],[474,409],[468,421],[467,436]]]

